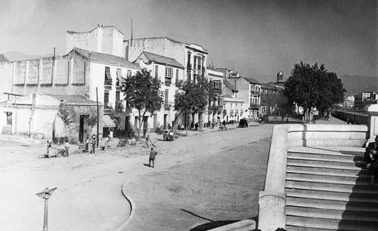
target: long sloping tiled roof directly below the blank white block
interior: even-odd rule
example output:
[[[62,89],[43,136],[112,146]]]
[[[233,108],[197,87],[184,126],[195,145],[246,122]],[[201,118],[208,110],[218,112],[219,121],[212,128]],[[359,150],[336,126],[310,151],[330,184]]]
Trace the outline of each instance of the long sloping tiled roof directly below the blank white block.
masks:
[[[124,68],[130,68],[135,70],[140,70],[139,65],[136,65],[134,63],[130,63],[129,60],[126,60],[126,58],[122,58],[115,55],[108,55],[104,53],[98,53],[95,51],[90,50],[84,50],[80,48],[73,48],[72,50],[75,50],[77,53],[82,55],[83,57],[89,59],[90,61],[93,61],[95,63],[103,63],[103,64],[109,64],[109,65],[115,65],[119,67]]]

